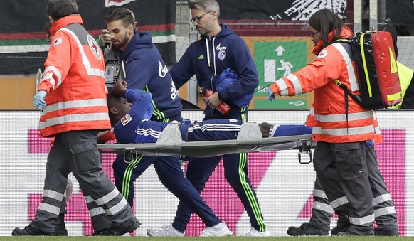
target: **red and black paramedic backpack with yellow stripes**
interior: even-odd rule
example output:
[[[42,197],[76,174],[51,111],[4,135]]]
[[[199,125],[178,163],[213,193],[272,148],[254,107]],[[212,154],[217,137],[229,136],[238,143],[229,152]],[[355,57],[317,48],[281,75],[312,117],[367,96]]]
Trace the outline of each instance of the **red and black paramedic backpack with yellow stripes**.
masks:
[[[359,77],[361,95],[352,94],[346,85],[339,87],[365,109],[383,109],[403,100],[393,38],[386,31],[368,31],[339,40],[350,43]]]

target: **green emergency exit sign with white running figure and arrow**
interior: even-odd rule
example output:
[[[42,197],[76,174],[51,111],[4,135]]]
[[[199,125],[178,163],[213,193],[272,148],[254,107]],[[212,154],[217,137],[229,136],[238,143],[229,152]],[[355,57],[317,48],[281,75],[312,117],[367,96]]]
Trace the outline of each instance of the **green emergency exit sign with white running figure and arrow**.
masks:
[[[306,109],[307,94],[276,97],[267,100],[267,87],[280,77],[290,75],[307,65],[306,41],[256,41],[254,60],[258,68],[259,86],[255,90],[255,109]]]

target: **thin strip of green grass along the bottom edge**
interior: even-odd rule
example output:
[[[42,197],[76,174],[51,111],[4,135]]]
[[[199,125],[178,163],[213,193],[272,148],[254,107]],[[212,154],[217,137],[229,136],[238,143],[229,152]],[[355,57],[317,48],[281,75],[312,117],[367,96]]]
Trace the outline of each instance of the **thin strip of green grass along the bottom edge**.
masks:
[[[117,240],[137,240],[137,241],[158,241],[158,240],[202,240],[202,241],[228,241],[228,240],[237,240],[237,241],[250,241],[250,240],[275,240],[275,241],[393,241],[393,240],[414,240],[414,237],[0,237],[0,240],[7,241],[78,241],[78,240],[107,240],[107,241],[117,241]]]

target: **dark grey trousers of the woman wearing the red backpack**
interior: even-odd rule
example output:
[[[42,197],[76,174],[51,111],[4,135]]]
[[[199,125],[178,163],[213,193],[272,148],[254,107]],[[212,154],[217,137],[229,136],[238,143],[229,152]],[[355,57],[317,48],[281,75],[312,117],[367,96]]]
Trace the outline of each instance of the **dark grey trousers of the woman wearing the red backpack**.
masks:
[[[365,145],[365,141],[341,144],[318,141],[314,168],[332,208],[349,216],[349,230],[372,235],[374,215]]]

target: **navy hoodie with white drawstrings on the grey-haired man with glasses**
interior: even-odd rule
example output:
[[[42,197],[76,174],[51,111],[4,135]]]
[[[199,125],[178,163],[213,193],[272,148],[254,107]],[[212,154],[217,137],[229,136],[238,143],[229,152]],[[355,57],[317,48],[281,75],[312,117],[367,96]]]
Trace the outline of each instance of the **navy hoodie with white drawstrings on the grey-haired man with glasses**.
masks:
[[[217,36],[201,36],[200,40],[191,43],[179,62],[171,67],[169,73],[177,88],[196,75],[200,87],[216,91],[216,78],[227,68],[234,70],[240,76],[239,81],[233,82],[219,92],[220,99],[230,105],[230,112],[223,116],[216,109],[210,107],[204,109],[205,119],[223,119],[237,117],[247,112],[246,107],[240,108],[234,105],[232,100],[253,92],[259,84],[258,71],[243,39],[221,24],[221,31]]]

